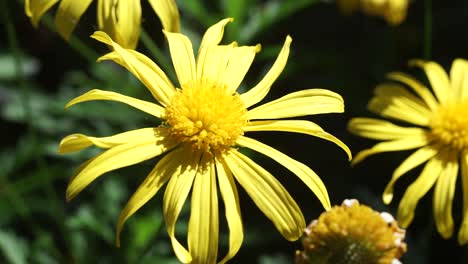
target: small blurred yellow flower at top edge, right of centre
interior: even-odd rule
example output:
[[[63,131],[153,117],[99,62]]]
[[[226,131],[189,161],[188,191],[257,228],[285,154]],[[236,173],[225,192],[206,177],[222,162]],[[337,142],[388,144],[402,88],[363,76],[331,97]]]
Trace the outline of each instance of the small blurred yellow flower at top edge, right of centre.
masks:
[[[370,16],[380,16],[391,25],[399,25],[406,18],[409,0],[337,0],[337,4],[344,14],[361,10]]]

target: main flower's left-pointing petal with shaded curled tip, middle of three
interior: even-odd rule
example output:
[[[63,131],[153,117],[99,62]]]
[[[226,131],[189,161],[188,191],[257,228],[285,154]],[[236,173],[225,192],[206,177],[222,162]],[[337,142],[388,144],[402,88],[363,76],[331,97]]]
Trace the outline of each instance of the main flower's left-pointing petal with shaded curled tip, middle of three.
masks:
[[[95,145],[100,148],[112,148],[121,144],[139,141],[145,138],[153,138],[155,142],[164,139],[165,134],[162,129],[148,127],[123,132],[110,137],[89,137],[83,134],[72,134],[60,141],[58,152],[61,154],[80,151]]]

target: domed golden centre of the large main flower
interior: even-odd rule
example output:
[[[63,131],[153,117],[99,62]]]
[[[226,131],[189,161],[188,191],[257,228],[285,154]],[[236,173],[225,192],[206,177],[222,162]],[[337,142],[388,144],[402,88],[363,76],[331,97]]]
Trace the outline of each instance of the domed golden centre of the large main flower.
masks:
[[[166,107],[169,133],[192,149],[225,151],[235,145],[247,124],[247,109],[239,94],[208,80],[189,82]]]

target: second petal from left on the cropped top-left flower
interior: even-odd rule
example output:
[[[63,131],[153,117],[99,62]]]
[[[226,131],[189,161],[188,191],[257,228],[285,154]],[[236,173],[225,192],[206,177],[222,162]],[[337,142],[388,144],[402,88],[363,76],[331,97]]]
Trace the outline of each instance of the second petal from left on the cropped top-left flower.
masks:
[[[55,24],[60,35],[68,40],[72,31],[75,29],[81,15],[86,11],[89,4],[93,0],[62,0],[60,2],[57,14],[55,16]]]

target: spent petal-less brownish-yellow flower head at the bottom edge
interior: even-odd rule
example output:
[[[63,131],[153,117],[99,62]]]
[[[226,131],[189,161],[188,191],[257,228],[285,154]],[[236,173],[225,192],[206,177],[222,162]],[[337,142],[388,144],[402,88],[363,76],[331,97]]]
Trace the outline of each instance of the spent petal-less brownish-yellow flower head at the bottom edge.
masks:
[[[396,264],[406,252],[405,230],[393,216],[345,200],[307,226],[297,264]]]

